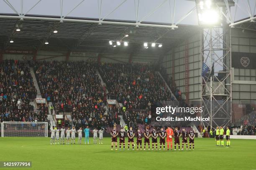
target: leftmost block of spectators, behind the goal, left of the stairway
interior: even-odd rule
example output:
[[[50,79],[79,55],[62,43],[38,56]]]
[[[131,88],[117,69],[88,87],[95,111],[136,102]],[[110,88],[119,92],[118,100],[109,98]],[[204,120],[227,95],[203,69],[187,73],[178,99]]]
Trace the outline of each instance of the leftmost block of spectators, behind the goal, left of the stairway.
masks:
[[[36,88],[27,62],[4,60],[0,64],[0,121],[47,121],[47,114],[34,112],[30,99]]]

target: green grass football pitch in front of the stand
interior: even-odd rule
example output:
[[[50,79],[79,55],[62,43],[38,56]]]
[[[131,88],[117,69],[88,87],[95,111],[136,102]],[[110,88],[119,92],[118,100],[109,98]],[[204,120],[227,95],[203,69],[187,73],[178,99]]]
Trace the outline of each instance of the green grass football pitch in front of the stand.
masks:
[[[110,141],[104,138],[99,145],[90,138],[89,145],[50,145],[50,138],[5,137],[0,138],[0,161],[31,161],[32,168],[22,168],[29,170],[256,169],[255,140],[233,139],[231,147],[216,147],[213,138],[195,138],[195,150],[175,151],[127,150],[127,143],[125,150],[110,150]]]

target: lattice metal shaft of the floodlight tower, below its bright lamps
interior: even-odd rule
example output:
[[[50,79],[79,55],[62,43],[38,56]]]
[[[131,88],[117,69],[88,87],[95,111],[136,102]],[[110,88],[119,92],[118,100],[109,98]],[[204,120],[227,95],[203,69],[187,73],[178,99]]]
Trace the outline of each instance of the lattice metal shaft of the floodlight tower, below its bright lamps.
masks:
[[[225,13],[228,9],[218,6],[218,10]],[[202,28],[201,63],[209,67],[205,76],[201,76],[201,104],[204,107],[201,116],[210,117],[210,121],[201,123],[215,129],[227,125],[232,113],[231,36],[224,17],[220,25]]]

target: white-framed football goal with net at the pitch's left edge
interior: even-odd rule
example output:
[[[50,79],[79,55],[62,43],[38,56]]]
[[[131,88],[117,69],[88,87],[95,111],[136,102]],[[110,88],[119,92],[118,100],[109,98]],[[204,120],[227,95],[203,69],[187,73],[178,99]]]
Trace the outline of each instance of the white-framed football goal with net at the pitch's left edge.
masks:
[[[48,122],[2,122],[2,137],[48,137]]]

